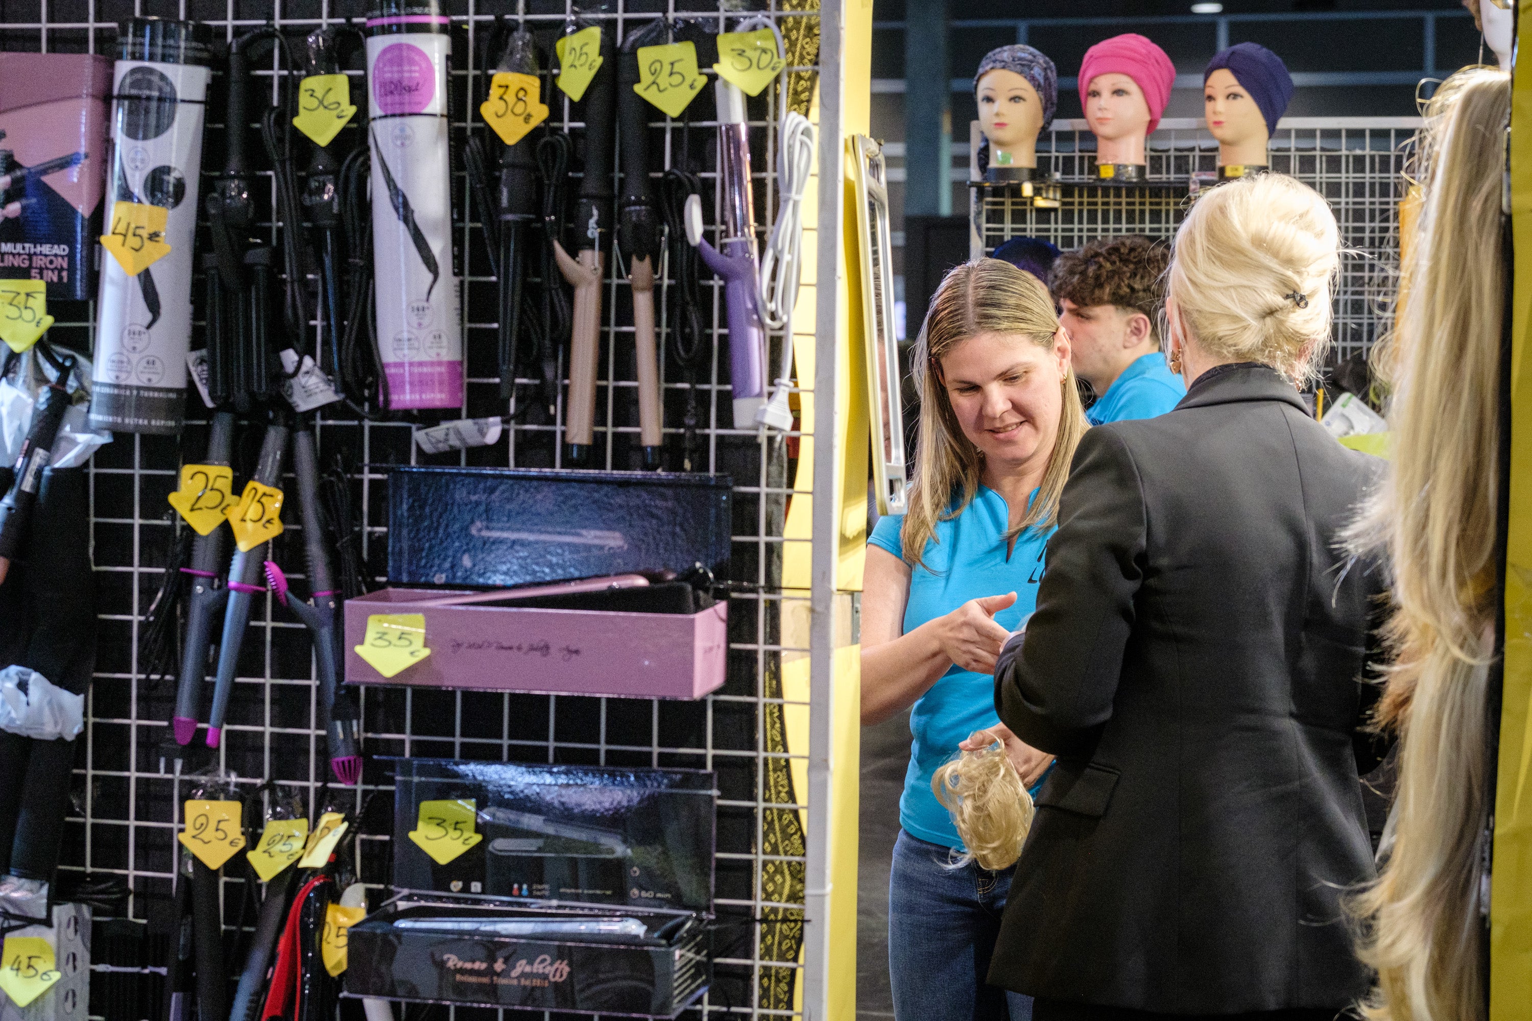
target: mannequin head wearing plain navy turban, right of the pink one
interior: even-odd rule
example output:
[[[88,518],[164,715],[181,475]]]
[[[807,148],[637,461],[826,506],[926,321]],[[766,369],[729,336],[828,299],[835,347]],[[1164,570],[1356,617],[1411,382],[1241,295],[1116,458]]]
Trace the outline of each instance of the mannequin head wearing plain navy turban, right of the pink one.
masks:
[[[1239,43],[1215,54],[1203,72],[1203,109],[1218,139],[1218,165],[1264,167],[1267,142],[1291,98],[1287,64],[1267,47]]]

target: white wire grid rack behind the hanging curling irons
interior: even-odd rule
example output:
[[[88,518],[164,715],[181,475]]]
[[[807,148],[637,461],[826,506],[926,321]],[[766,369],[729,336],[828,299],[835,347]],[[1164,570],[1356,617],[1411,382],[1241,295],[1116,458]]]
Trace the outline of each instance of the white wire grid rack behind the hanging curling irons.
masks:
[[[316,422],[320,462],[337,453],[346,459],[351,496],[363,522],[363,556],[374,583],[383,580],[386,562],[388,502],[386,470],[401,464],[464,464],[564,467],[561,461],[562,401],[548,416],[539,406],[536,381],[518,380],[518,395],[502,401],[495,357],[496,282],[489,268],[478,211],[458,153],[470,132],[483,132],[478,104],[487,90],[484,40],[507,5],[480,0],[443,0],[452,18],[452,150],[455,257],[464,286],[464,351],[467,387],[457,412],[415,416],[415,424],[434,424],[463,415],[509,416],[501,439],[490,447],[452,455],[421,455],[412,442],[411,421],[366,422],[322,413]],[[516,5],[509,5],[515,8]],[[576,14],[567,0],[524,0],[524,24],[544,43],[544,72],[552,63],[553,37]],[[118,21],[133,15],[192,18],[214,26],[221,41],[257,24],[276,23],[290,41],[316,26],[357,20],[365,0],[0,0],[0,49],[31,52],[97,52],[112,55]],[[579,17],[601,23],[616,40],[642,29],[656,17],[689,18],[711,31],[732,29],[745,14],[772,17],[787,37],[791,103],[807,107],[818,73],[818,3],[804,0],[722,0],[706,5],[676,0],[607,0],[582,6]],[[518,17],[516,14],[510,15]],[[798,49],[794,51],[792,47]],[[700,61],[706,69],[711,61]],[[360,67],[360,55],[351,61]],[[614,69],[611,69],[614,72]],[[279,95],[282,64],[273,58],[264,72]],[[351,70],[358,75],[360,70]],[[604,72],[607,73],[607,72]],[[224,153],[222,87],[214,84],[207,107],[204,184],[207,194]],[[354,83],[354,101],[360,101]],[[685,121],[669,121],[653,112],[650,124],[651,178],[688,162],[703,178],[705,207],[714,210],[715,121],[712,90],[703,89]],[[544,101],[553,107],[548,126],[579,136],[579,107],[556,92],[544,73]],[[775,122],[780,116],[775,87],[749,101],[757,230],[764,234],[777,208]],[[257,104],[259,106],[259,104]],[[365,109],[365,107],[363,107]],[[803,112],[807,112],[806,109]],[[259,115],[259,110],[256,110]],[[360,118],[358,118],[360,122]],[[358,122],[334,144],[342,153],[360,139]],[[349,138],[348,138],[349,136]],[[248,142],[254,152],[254,139]],[[490,145],[492,152],[498,152]],[[306,144],[297,144],[306,159]],[[262,159],[254,161],[264,165]],[[579,167],[576,159],[574,167]],[[578,187],[578,185],[576,185]],[[264,214],[260,231],[276,242],[283,225],[274,222],[270,171],[254,188]],[[715,237],[715,228],[709,227]],[[198,243],[207,251],[207,223],[199,225]],[[313,283],[313,280],[311,280]],[[597,396],[596,456],[587,467],[639,467],[637,390],[631,354],[631,305],[625,295],[620,257],[608,257],[604,286],[604,329]],[[201,300],[202,286],[193,286]],[[666,467],[680,468],[677,447],[685,439],[680,422],[688,398],[696,395],[697,426],[692,470],[728,473],[734,482],[732,566],[728,680],[714,695],[699,701],[617,700],[553,695],[484,693],[414,689],[368,689],[357,692],[363,707],[363,750],[368,762],[355,788],[328,784],[323,735],[316,730],[313,655],[308,634],[270,595],[257,597],[250,632],[228,710],[224,747],[214,765],[233,770],[244,790],[267,779],[299,793],[311,817],[326,807],[349,808],[355,822],[346,842],[360,879],[369,885],[369,903],[386,895],[391,876],[389,845],[392,784],[385,762],[372,756],[441,756],[463,759],[605,764],[619,767],[705,768],[717,775],[719,848],[715,859],[717,923],[714,928],[714,981],[709,993],[683,1016],[791,1016],[798,981],[803,938],[804,839],[791,759],[806,758],[806,749],[786,747],[786,703],[781,689],[783,654],[807,654],[780,644],[784,600],[807,603],[807,591],[784,594],[780,588],[783,519],[791,494],[795,445],[791,439],[766,438],[751,429],[732,429],[726,369],[726,328],[722,283],[705,274],[705,321],[711,323],[706,351],[692,367],[676,361],[668,323],[671,282],[657,282],[665,381]],[[89,352],[93,303],[58,305],[52,340]],[[198,308],[193,346],[202,343]],[[313,351],[311,325],[306,346]],[[812,335],[810,335],[812,337]],[[775,343],[780,340],[774,338]],[[772,352],[771,364],[777,364]],[[692,387],[696,387],[692,390]],[[201,404],[188,390],[188,424],[176,436],[118,435],[90,467],[92,543],[98,579],[100,649],[95,681],[87,701],[84,745],[78,752],[63,869],[97,876],[121,876],[130,889],[129,917],[164,931],[172,902],[173,862],[178,843],[181,801],[190,782],[178,778],[161,756],[169,733],[173,678],[153,683],[139,661],[139,631],[159,588],[178,525],[167,514],[165,496],[176,488],[178,465],[196,461],[205,450],[207,422],[196,421]],[[337,406],[339,407],[339,406]],[[404,416],[401,416],[404,418]],[[248,478],[259,424],[241,427],[236,439],[236,485]],[[291,478],[291,476],[290,476]],[[296,517],[296,514],[291,514]],[[290,574],[302,565],[302,542],[296,522],[274,542],[271,557]],[[303,582],[299,592],[306,591]],[[199,735],[201,738],[201,735]],[[225,868],[225,923],[233,925],[244,869],[237,859]],[[234,934],[228,931],[230,948]],[[153,941],[150,941],[153,943]],[[150,949],[138,961],[103,961],[97,954],[97,978],[110,974],[115,989],[127,990],[121,972],[136,970],[139,987],[123,995],[93,997],[90,1013],[107,1021],[158,1019],[162,990],[162,957]],[[116,970],[110,970],[116,969]],[[100,987],[103,983],[93,983]],[[147,992],[146,992],[147,990]],[[149,1004],[149,1006],[146,1006]],[[486,1009],[434,1007],[432,1016],[490,1016]],[[510,1012],[506,1016],[536,1016]]]

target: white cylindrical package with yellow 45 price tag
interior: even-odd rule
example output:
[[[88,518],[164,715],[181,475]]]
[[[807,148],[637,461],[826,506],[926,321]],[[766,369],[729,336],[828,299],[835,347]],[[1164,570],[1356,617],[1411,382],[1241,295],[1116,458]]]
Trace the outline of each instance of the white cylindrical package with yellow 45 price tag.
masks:
[[[202,170],[211,29],[130,18],[118,35],[113,156],[104,237],[138,268],[103,254],[90,426],[175,433],[192,347],[192,239]],[[169,245],[153,265],[141,260]]]

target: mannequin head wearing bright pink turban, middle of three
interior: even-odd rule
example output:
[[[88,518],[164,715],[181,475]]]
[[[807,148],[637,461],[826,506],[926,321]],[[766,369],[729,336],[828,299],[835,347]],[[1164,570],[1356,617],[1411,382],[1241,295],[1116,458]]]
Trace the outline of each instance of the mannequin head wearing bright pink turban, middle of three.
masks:
[[[1174,86],[1175,64],[1143,35],[1114,35],[1085,51],[1080,106],[1098,167],[1144,164],[1144,136],[1158,127]]]

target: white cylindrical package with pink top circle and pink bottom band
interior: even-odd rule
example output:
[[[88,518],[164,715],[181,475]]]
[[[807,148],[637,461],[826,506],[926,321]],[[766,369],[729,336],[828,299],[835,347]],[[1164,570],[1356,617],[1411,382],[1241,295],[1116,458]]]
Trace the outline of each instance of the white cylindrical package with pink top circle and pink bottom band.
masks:
[[[380,0],[368,15],[377,337],[395,410],[463,404],[463,323],[452,271],[447,58],[437,0]]]

